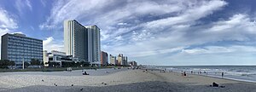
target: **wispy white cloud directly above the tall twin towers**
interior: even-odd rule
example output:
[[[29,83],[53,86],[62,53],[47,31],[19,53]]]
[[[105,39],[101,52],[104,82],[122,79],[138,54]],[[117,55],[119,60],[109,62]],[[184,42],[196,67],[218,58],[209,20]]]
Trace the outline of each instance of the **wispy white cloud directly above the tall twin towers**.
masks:
[[[101,8],[98,5],[105,5],[108,3],[111,2],[107,0],[73,0],[67,2],[62,0],[57,1],[53,5],[53,9],[51,9],[51,13],[46,22],[41,24],[39,27],[44,29],[59,26],[64,20],[78,19],[86,14],[93,14],[96,12],[97,8]],[[86,7],[84,7],[84,5],[86,5]]]

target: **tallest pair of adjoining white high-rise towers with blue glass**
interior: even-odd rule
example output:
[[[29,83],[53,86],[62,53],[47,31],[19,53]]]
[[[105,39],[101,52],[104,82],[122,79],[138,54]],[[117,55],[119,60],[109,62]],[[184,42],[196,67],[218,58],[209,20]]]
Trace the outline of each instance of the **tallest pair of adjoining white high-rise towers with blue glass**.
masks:
[[[77,20],[64,21],[64,48],[67,55],[79,61],[101,64],[100,28],[82,26]]]

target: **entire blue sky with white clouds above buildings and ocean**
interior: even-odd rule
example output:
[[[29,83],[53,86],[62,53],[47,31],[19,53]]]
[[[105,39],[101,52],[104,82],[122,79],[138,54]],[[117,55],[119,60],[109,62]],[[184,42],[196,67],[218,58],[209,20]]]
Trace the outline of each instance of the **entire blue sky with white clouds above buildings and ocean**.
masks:
[[[0,0],[0,35],[64,51],[63,21],[101,28],[102,51],[143,65],[256,65],[254,0]]]

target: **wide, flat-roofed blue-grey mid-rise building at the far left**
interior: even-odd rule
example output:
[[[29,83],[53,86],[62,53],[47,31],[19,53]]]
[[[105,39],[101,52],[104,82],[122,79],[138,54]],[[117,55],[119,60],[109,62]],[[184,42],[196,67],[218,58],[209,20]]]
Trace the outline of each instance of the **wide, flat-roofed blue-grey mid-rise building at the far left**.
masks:
[[[24,34],[6,33],[2,36],[1,60],[15,61],[16,67],[32,59],[43,61],[43,40]]]

